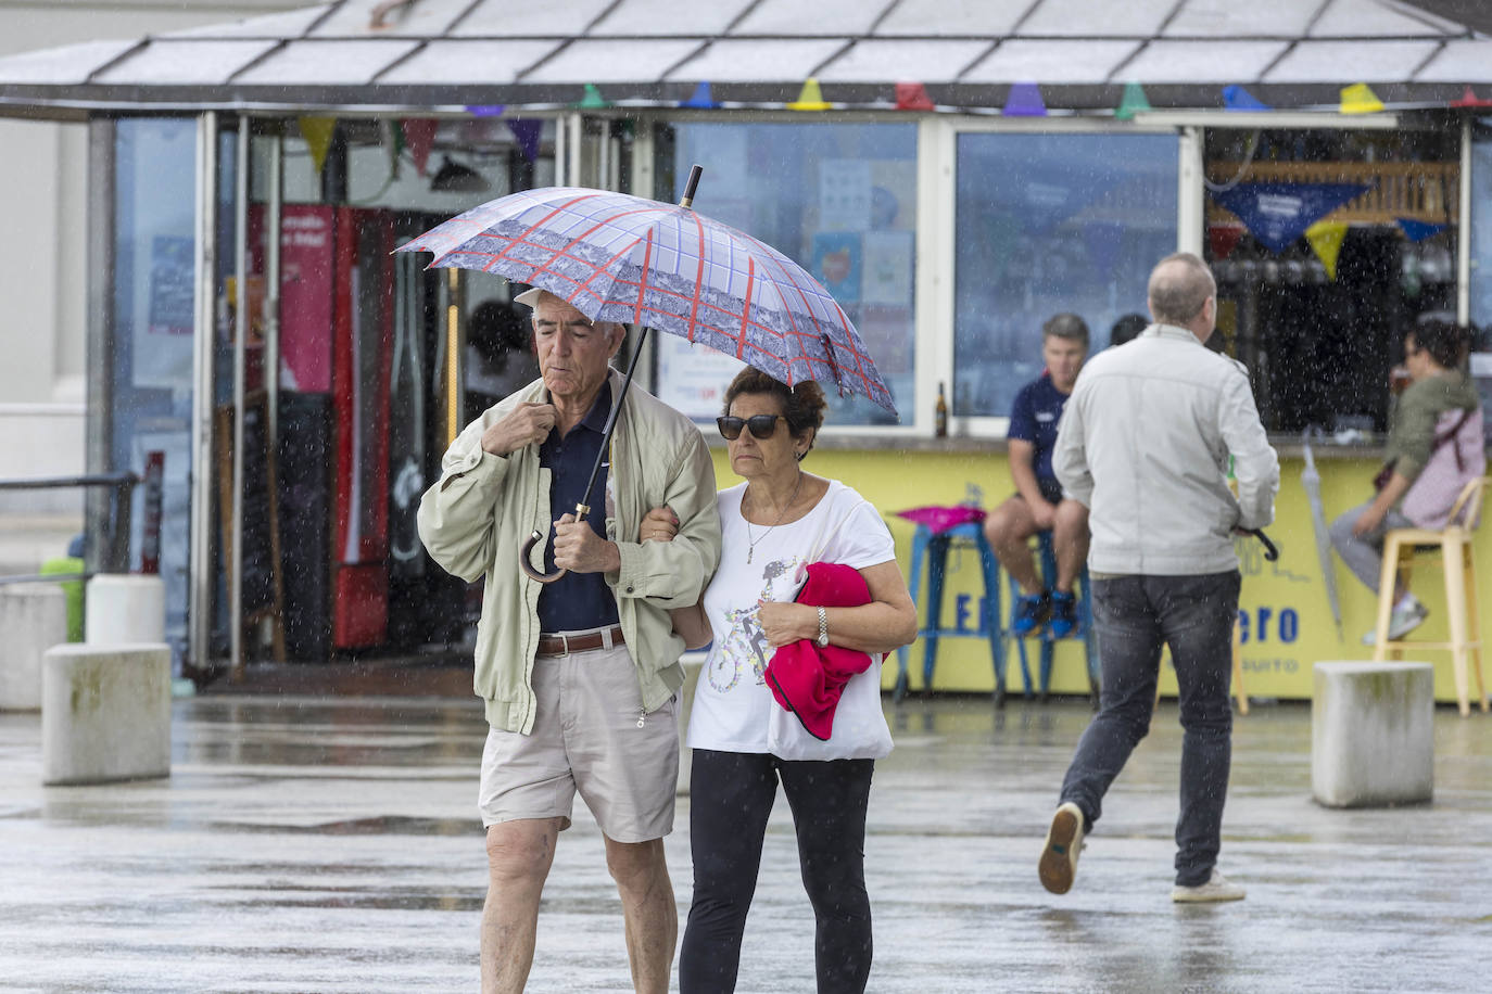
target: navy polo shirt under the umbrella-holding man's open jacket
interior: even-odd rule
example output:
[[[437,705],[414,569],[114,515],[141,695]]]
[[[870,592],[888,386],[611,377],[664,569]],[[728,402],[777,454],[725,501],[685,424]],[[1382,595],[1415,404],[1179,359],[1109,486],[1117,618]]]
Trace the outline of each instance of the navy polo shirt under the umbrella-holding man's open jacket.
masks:
[[[574,505],[585,498],[585,484],[591,468],[601,452],[601,437],[606,419],[612,413],[612,384],[604,383],[595,404],[580,423],[564,437],[560,426],[539,446],[539,465],[549,469],[549,507],[555,519],[574,514]],[[606,477],[609,466],[601,465],[591,490],[591,514],[586,520],[591,531],[606,538]],[[554,532],[545,542],[545,572],[554,572]],[[539,630],[577,632],[616,624],[616,598],[606,586],[603,572],[567,572],[560,580],[545,584],[539,592]]]

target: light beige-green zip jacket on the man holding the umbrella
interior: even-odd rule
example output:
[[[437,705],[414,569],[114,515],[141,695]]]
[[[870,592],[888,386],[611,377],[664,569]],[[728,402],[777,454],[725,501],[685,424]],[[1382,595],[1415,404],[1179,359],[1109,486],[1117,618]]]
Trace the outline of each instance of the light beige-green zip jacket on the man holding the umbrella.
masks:
[[[616,396],[622,377],[616,370],[610,377]],[[536,380],[483,411],[451,443],[440,480],[419,501],[419,538],[430,557],[467,583],[486,575],[473,684],[488,723],[524,735],[534,727],[540,584],[519,571],[518,556],[533,531],[549,534],[558,513],[549,507],[551,474],[539,465],[539,446],[494,456],[480,443],[519,402],[545,399],[543,380]],[[634,384],[616,419],[609,474],[615,508],[607,508],[606,538],[616,542],[622,568],[606,583],[637,666],[643,708],[655,711],[683,686],[683,639],[673,633],[667,610],[695,604],[721,560],[715,463],[689,419]],[[592,504],[603,499],[591,496]],[[679,516],[679,535],[639,544],[643,516],[661,505]],[[545,568],[539,544],[533,565]]]

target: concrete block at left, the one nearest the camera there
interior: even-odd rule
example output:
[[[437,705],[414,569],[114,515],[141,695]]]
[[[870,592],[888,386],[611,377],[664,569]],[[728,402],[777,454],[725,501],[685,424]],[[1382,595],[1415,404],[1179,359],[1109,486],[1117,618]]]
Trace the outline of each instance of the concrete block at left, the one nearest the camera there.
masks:
[[[42,782],[172,773],[172,651],[54,645],[42,668]]]

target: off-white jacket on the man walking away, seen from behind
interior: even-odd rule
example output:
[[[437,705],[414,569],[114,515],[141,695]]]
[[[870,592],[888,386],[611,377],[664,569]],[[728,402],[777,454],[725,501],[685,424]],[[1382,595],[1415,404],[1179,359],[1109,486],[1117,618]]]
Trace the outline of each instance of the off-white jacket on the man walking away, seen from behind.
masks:
[[[1170,325],[1088,361],[1052,468],[1089,508],[1088,565],[1107,574],[1237,569],[1232,531],[1273,522],[1280,489],[1243,365]]]

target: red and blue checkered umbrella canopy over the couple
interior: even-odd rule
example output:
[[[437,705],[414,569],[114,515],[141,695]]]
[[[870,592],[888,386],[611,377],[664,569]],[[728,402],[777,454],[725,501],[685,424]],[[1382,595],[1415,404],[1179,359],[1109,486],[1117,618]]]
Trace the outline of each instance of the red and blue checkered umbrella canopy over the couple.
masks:
[[[592,320],[703,343],[789,386],[831,382],[897,410],[855,325],[818,280],[689,207],[548,186],[473,207],[400,250],[543,288]]]

